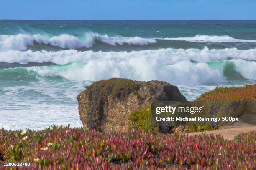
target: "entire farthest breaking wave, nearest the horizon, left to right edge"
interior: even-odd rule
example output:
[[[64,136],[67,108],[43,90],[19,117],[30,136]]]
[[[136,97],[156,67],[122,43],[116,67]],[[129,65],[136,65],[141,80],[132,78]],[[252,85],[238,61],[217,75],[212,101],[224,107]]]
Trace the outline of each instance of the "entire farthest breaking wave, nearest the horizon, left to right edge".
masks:
[[[176,40],[188,42],[246,42],[256,43],[256,40],[235,39],[228,35],[210,36],[210,35],[196,35],[195,37],[163,37],[163,38],[142,38],[142,37],[110,37],[107,34],[99,34],[95,32],[86,32],[84,35],[74,36],[69,34],[61,35],[47,35],[47,34],[18,34],[18,35],[0,35],[0,51],[8,50],[28,50],[28,47],[34,46],[34,43],[51,45],[63,49],[79,49],[90,48],[100,40],[108,45],[150,45],[157,43],[156,40]]]

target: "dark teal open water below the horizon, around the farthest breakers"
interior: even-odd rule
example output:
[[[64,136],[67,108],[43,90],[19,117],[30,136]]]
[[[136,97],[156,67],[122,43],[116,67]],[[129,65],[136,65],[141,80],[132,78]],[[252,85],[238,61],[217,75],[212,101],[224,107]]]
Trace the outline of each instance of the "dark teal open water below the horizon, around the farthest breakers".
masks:
[[[47,38],[61,34],[72,35],[80,40],[95,37],[95,34],[113,37],[114,41],[123,40],[125,37],[142,37],[155,39],[157,43],[137,46],[123,44],[113,46],[110,43],[95,38],[94,45],[91,40],[84,42],[82,47],[73,44],[78,50],[104,50],[104,51],[132,51],[158,48],[198,48],[225,49],[236,47],[245,50],[255,47],[256,20],[223,20],[223,21],[41,21],[41,20],[1,20],[0,35],[44,35]],[[92,35],[88,35],[91,33]],[[196,35],[214,36],[214,41],[207,41],[207,37],[197,37],[194,41],[163,40],[164,38],[195,37]],[[226,36],[226,37],[223,37]],[[113,40],[112,39],[112,40]],[[234,40],[236,39],[236,40]],[[250,40],[252,40],[250,42]],[[63,40],[64,41],[64,40]],[[110,40],[107,40],[110,42]],[[70,42],[69,42],[70,43]],[[74,41],[73,41],[74,43]],[[60,45],[25,45],[32,50],[59,50]],[[72,46],[73,47],[73,46]],[[15,47],[12,47],[15,49]],[[12,49],[11,48],[11,49]],[[16,47],[18,49],[18,47]]]

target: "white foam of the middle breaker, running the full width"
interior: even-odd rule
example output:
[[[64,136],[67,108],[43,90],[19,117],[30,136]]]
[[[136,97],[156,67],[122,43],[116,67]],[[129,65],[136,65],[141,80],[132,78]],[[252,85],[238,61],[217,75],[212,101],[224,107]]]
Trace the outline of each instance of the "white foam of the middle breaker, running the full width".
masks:
[[[67,64],[69,62],[89,62],[91,60],[125,62],[141,58],[148,62],[156,62],[160,65],[174,64],[179,61],[193,60],[197,62],[209,62],[226,59],[256,60],[256,49],[238,50],[226,48],[222,50],[209,50],[205,47],[199,49],[159,49],[132,52],[93,52],[77,50],[49,51],[6,51],[0,52],[0,62],[26,64],[28,62],[53,62]]]

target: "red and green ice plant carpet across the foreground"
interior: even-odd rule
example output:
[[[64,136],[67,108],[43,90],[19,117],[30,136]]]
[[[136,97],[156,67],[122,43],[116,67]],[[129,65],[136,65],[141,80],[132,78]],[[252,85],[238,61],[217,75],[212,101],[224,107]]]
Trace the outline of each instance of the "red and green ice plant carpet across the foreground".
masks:
[[[27,130],[26,135],[23,140],[20,131],[0,129],[0,164],[30,162],[24,169],[256,168],[255,131],[234,140],[140,131],[100,133],[56,126]]]

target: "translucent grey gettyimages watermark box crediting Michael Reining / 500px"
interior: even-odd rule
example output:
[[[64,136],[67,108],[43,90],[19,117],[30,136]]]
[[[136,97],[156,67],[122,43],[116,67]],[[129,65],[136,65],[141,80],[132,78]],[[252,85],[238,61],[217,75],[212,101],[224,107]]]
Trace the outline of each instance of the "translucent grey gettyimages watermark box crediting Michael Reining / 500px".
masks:
[[[154,122],[195,122],[223,125],[230,122],[251,122],[256,118],[255,102],[175,102],[164,101],[151,105]],[[255,122],[251,122],[255,124]],[[159,123],[158,123],[159,125]],[[161,125],[161,124],[160,124]],[[163,125],[166,125],[164,123]]]

